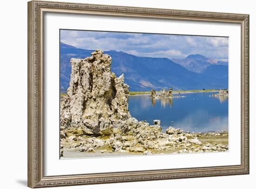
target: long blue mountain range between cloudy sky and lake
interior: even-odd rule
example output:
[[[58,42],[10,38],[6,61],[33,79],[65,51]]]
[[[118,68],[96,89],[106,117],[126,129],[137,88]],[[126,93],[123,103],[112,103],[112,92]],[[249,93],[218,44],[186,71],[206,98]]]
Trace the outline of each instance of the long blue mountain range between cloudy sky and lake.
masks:
[[[70,59],[89,57],[93,51],[79,49],[64,43],[60,44],[61,90],[67,90],[69,86]],[[148,91],[152,88],[155,90],[162,88],[175,90],[228,88],[228,66],[218,63],[209,63],[208,66],[205,66],[204,62],[209,59],[202,55],[191,55],[185,59],[196,60],[194,62],[197,63],[193,63],[195,64],[194,67],[198,64],[197,69],[201,70],[196,72],[168,58],[136,57],[116,50],[109,50],[104,53],[112,57],[111,70],[116,76],[124,74],[125,83],[129,85],[130,91]]]

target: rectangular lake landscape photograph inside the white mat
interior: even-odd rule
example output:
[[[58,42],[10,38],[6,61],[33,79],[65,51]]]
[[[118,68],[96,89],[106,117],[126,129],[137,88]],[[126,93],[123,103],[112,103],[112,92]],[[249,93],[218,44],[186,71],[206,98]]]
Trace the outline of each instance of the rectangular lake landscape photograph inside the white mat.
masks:
[[[59,33],[60,159],[229,151],[229,37]]]

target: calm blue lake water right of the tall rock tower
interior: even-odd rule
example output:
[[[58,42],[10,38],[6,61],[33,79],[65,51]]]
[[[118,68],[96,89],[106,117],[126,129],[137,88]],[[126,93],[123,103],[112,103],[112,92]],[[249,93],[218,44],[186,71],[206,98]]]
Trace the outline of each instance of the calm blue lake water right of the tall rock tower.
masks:
[[[149,95],[129,96],[129,111],[137,120],[161,120],[165,131],[169,126],[189,132],[228,130],[228,97],[211,97],[213,92],[179,94],[184,98],[152,100]]]

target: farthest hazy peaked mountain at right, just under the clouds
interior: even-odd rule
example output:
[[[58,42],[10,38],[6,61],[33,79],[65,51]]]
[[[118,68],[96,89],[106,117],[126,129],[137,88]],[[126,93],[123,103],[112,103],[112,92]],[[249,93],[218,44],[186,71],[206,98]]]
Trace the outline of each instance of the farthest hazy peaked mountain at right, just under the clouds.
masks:
[[[182,65],[184,68],[201,73],[210,65],[225,65],[228,66],[228,62],[222,62],[218,60],[209,59],[199,54],[189,55],[185,59],[172,58],[172,61]]]

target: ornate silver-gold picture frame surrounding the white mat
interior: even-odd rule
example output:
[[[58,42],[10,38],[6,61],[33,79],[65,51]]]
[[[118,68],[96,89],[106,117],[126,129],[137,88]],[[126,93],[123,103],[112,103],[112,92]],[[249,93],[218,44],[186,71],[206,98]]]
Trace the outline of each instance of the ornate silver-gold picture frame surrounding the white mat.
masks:
[[[176,19],[241,25],[241,164],[172,170],[44,176],[43,17],[44,13]],[[249,174],[249,15],[64,2],[28,2],[27,178],[31,188]]]

